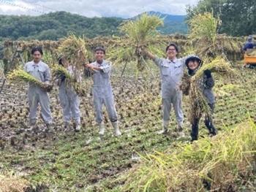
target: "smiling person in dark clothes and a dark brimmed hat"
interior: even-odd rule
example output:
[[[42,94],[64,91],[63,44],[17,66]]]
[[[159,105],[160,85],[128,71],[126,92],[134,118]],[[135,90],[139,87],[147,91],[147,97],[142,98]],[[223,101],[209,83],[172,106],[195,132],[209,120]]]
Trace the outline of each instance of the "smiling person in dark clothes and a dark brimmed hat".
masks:
[[[198,69],[200,69],[200,67],[203,65],[203,61],[201,61],[201,59],[195,55],[189,56],[185,63],[188,69],[188,75],[190,77],[195,75]],[[197,80],[197,86],[200,88],[201,93],[203,93],[203,96],[206,99],[208,106],[211,109],[211,113],[213,113],[215,96],[212,91],[212,88],[214,87],[214,78],[211,75],[211,70],[206,69],[203,72],[203,78],[200,78],[199,80]],[[197,102],[197,98],[195,98],[194,101],[192,102]],[[195,106],[197,105],[195,104]],[[194,141],[198,139],[198,125],[199,125],[200,117],[193,118],[191,121],[192,121],[191,137],[192,137],[192,141]],[[204,123],[208,128],[209,134],[211,136],[214,136],[217,134],[217,129],[214,127],[211,117],[206,115]]]

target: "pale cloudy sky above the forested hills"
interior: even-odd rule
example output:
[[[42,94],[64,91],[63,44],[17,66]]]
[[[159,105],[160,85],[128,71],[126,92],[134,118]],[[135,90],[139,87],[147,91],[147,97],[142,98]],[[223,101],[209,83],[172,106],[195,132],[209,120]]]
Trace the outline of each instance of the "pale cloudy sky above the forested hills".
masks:
[[[41,15],[67,11],[86,17],[131,18],[141,12],[157,11],[185,15],[188,4],[198,0],[0,0],[0,15]],[[1,16],[0,16],[1,17]]]

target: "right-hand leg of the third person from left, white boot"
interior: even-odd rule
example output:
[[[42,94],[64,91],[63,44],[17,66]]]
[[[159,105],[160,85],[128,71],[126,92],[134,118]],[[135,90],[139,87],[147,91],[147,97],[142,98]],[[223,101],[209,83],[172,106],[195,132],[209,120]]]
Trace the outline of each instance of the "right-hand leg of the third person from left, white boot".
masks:
[[[116,135],[116,137],[118,137],[121,135],[121,131],[119,130],[119,127],[118,127],[118,117],[116,114],[116,107],[115,107],[113,96],[109,96],[105,98],[105,106],[108,112],[108,117],[110,118],[110,121],[114,128],[114,134]]]

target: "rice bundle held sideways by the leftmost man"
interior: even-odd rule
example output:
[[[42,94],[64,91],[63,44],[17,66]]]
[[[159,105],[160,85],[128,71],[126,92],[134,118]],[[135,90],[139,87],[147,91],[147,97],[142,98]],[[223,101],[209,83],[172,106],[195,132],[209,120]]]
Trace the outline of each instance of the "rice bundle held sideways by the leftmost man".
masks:
[[[15,69],[7,75],[7,79],[11,82],[29,82],[34,85],[39,86],[40,88],[44,89],[45,91],[51,91],[53,89],[52,83],[45,83],[37,80],[37,78],[33,77],[31,74],[25,72],[23,69]]]

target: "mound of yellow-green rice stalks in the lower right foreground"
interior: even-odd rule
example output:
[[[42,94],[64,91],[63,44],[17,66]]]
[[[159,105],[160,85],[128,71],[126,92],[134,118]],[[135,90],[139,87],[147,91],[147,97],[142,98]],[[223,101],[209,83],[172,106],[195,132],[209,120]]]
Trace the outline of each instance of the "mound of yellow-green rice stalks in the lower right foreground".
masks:
[[[255,175],[256,125],[156,152],[128,174],[123,191],[239,191]]]

